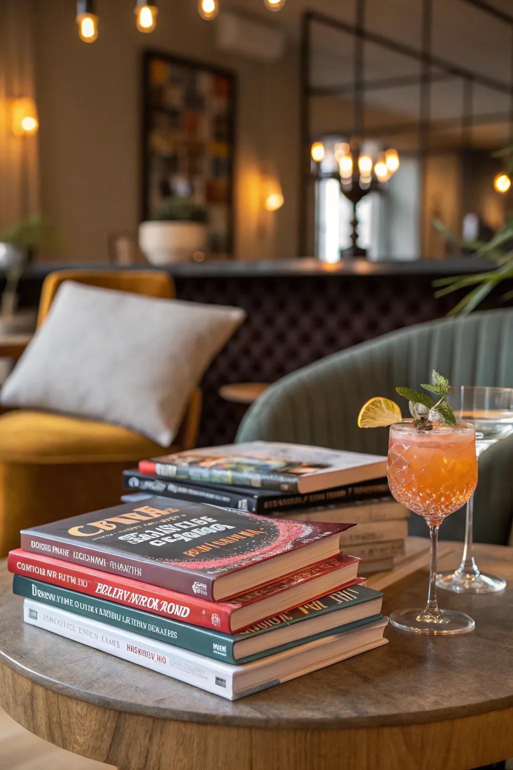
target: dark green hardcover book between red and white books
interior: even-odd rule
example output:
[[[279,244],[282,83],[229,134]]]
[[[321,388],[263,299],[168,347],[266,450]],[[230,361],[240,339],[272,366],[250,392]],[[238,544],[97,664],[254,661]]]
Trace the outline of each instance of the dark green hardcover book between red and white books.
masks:
[[[165,641],[175,647],[232,664],[249,663],[281,650],[296,647],[298,644],[305,644],[307,641],[329,634],[349,631],[351,628],[375,621],[381,617],[382,599],[382,594],[378,591],[355,583],[334,591],[328,596],[315,599],[302,607],[277,615],[275,618],[261,621],[238,634],[223,634],[221,631],[211,631],[142,610],[123,607],[105,599],[78,594],[76,591],[69,591],[67,588],[60,588],[18,574],[14,576],[12,590],[19,596],[34,599],[42,604],[60,607],[83,615],[85,618],[122,628],[124,631],[132,631],[148,638]],[[321,616],[327,614],[331,615],[330,619],[326,619],[328,623],[331,621],[330,627],[318,631],[319,621],[322,624]],[[311,620],[315,618],[319,620],[314,623],[315,628],[311,628],[311,634],[306,631],[308,636],[298,637],[295,629],[287,631],[292,625],[296,626],[301,621],[306,621],[309,626]],[[290,634],[296,638],[285,641]],[[273,640],[277,643],[274,644]],[[280,640],[284,643],[279,644]],[[265,649],[255,651],[253,654],[244,654],[245,650],[262,646],[265,646]]]

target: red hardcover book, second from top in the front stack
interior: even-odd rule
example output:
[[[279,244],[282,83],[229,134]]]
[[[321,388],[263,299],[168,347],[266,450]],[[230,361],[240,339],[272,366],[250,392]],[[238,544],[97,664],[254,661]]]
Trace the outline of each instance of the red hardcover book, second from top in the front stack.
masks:
[[[165,618],[235,634],[355,581],[358,561],[357,557],[338,554],[298,574],[217,603],[135,581],[132,577],[119,577],[43,554],[29,554],[21,548],[8,555],[8,569],[48,584],[71,588],[78,592],[78,602],[82,601],[80,594],[88,594]],[[72,606],[69,609],[73,611]]]

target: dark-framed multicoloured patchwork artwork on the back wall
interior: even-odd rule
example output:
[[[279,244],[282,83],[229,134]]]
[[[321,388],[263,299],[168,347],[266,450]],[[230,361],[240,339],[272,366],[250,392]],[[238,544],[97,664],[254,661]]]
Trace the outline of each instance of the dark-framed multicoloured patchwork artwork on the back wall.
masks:
[[[146,51],[142,121],[142,219],[190,199],[207,210],[208,252],[232,255],[235,75]]]

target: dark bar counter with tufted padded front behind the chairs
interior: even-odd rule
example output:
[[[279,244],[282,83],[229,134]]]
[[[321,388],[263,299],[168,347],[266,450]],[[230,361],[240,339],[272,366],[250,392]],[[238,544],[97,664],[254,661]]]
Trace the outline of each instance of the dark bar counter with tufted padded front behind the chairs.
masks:
[[[219,397],[222,385],[275,382],[330,353],[411,323],[445,316],[462,295],[436,299],[432,281],[493,267],[487,260],[469,257],[375,263],[354,259],[337,264],[310,258],[226,260],[165,266],[175,280],[178,299],[239,306],[247,313],[245,323],[203,378],[198,445],[221,444],[235,437],[245,407]],[[36,306],[45,276],[55,269],[71,268],[162,269],[35,264],[22,275],[20,304]],[[480,309],[503,306],[500,297],[508,288],[499,286]]]

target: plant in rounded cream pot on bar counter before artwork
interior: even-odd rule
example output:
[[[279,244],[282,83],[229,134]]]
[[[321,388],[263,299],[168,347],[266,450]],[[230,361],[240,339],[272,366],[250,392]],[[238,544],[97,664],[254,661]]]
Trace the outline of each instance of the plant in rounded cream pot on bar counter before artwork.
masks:
[[[185,262],[207,243],[207,210],[187,198],[165,200],[139,225],[139,246],[152,265]]]

